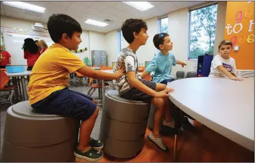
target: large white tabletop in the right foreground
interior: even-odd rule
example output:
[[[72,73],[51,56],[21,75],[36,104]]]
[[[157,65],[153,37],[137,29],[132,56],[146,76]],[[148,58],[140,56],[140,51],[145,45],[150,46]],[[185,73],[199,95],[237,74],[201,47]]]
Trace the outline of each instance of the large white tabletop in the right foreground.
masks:
[[[254,151],[254,78],[194,77],[170,82],[169,99],[205,126]]]

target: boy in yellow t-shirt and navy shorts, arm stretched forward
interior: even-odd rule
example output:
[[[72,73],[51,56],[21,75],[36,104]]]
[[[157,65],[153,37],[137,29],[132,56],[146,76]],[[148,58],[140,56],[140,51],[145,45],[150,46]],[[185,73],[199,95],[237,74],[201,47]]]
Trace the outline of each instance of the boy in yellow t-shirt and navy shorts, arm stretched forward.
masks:
[[[55,42],[38,58],[28,84],[30,105],[38,113],[60,114],[81,120],[79,143],[74,155],[80,159],[98,161],[103,157],[103,143],[90,138],[99,113],[97,102],[87,95],[68,89],[69,73],[79,72],[94,79],[119,79],[124,68],[108,74],[86,66],[70,50],[77,50],[81,42],[81,26],[72,17],[53,14],[47,28]],[[99,150],[99,151],[98,151]]]

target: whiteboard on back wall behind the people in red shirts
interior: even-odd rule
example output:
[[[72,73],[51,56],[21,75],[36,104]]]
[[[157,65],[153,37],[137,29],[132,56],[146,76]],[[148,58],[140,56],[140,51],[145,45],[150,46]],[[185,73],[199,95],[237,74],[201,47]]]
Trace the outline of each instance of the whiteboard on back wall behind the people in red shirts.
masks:
[[[24,52],[22,45],[26,38],[33,38],[33,40],[44,40],[46,41],[48,47],[51,46],[54,42],[51,40],[51,37],[48,36],[35,36],[35,35],[23,35],[19,33],[8,33],[3,32],[4,35],[4,45],[5,50],[8,51],[11,56],[11,65],[21,65],[26,66],[27,60],[24,59]],[[1,42],[2,45],[2,42]]]

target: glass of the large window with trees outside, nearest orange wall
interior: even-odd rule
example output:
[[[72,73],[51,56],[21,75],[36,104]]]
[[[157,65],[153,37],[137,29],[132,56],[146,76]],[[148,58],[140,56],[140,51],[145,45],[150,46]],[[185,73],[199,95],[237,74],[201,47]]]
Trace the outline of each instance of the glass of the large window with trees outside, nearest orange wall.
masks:
[[[211,4],[189,12],[189,56],[198,59],[204,54],[213,55],[216,36],[218,4]]]

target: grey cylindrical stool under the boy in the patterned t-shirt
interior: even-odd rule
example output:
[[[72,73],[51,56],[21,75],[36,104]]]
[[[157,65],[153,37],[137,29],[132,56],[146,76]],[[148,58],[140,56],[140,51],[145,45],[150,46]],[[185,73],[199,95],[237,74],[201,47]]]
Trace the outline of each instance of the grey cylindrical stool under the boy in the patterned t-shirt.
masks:
[[[117,91],[107,91],[99,139],[104,153],[117,158],[135,157],[144,146],[150,104],[126,100]]]

